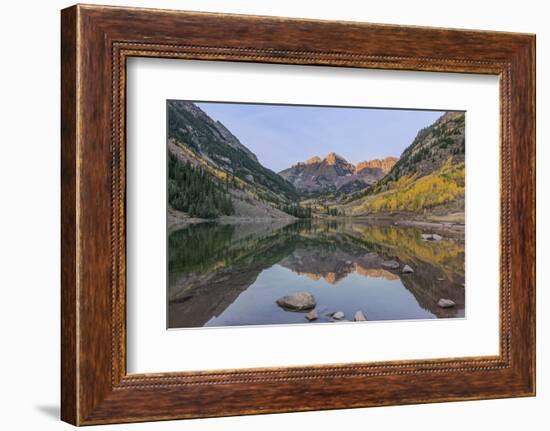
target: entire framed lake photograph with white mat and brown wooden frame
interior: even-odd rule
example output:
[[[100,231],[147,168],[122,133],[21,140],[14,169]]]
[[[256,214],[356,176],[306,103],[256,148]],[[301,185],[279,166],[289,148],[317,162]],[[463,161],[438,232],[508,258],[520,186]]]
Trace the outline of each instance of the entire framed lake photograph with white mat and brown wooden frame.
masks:
[[[535,394],[535,37],[62,11],[62,419]]]

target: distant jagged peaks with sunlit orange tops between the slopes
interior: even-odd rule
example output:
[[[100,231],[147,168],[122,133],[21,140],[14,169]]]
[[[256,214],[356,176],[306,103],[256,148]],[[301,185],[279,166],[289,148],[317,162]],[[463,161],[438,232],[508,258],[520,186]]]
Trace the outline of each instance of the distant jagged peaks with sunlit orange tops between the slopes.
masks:
[[[313,157],[279,172],[301,192],[360,190],[384,177],[397,162],[396,157],[360,162],[357,166],[336,153],[325,158]]]

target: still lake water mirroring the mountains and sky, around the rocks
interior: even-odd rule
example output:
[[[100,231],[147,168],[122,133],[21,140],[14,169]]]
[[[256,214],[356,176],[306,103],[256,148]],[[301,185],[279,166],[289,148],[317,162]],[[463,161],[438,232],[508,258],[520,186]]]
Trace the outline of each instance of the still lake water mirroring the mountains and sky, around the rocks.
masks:
[[[464,317],[464,238],[425,241],[413,227],[356,221],[189,225],[168,238],[168,326],[309,323],[281,296],[309,292],[319,319]],[[385,260],[409,265],[383,269]],[[441,298],[456,303],[439,308]]]

